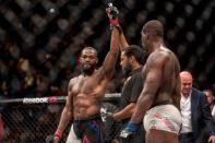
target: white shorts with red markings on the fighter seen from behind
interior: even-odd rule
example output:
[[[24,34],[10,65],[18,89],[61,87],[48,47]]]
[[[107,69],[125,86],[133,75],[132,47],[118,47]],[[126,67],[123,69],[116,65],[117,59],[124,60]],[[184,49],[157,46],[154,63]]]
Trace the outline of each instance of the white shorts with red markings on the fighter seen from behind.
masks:
[[[182,119],[174,105],[159,105],[146,111],[143,122],[146,132],[155,129],[179,134]]]

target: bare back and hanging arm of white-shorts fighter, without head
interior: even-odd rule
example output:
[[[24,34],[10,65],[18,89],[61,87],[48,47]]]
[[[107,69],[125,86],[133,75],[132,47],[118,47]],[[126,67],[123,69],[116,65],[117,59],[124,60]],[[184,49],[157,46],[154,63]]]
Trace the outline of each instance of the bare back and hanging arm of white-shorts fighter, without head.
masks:
[[[179,108],[180,64],[172,51],[162,43],[155,44],[143,68],[144,88],[139,98],[133,122],[140,122],[147,109],[164,100],[172,100]],[[144,114],[143,114],[144,112]]]

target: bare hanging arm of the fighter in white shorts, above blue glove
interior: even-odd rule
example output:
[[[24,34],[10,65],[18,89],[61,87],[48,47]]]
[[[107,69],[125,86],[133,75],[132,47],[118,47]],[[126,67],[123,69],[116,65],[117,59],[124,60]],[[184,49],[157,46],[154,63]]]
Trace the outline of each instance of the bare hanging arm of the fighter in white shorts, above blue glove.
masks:
[[[145,82],[143,91],[138,99],[135,111],[131,118],[132,122],[139,123],[143,119],[145,111],[152,106],[156,93],[162,84],[163,64],[165,58],[163,56],[152,55],[148,57],[145,67]]]

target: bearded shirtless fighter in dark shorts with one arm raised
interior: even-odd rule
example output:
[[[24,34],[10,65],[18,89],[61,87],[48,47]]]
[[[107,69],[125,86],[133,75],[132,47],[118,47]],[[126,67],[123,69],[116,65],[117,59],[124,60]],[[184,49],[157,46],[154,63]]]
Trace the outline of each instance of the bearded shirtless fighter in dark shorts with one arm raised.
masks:
[[[67,143],[104,143],[100,105],[105,90],[115,70],[119,52],[119,33],[111,31],[110,51],[96,70],[97,51],[85,47],[81,53],[82,74],[70,80],[68,97],[53,141],[58,143],[70,120],[73,119]]]

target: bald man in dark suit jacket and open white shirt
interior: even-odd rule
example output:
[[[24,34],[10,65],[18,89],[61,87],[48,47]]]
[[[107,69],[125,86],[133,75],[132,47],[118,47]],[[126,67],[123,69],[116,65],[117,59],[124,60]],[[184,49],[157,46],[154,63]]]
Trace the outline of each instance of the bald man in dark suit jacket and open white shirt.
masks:
[[[201,91],[192,87],[193,78],[190,72],[180,72],[180,80],[182,116],[180,143],[204,143],[199,139],[204,131],[204,127],[210,131],[208,142],[215,143],[215,122],[206,97]]]

